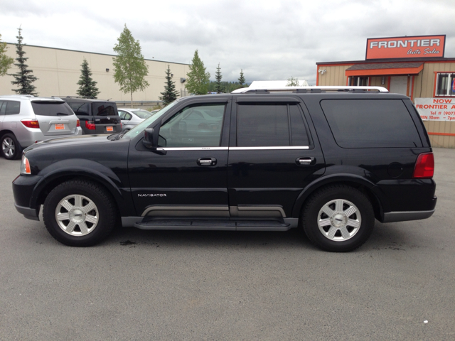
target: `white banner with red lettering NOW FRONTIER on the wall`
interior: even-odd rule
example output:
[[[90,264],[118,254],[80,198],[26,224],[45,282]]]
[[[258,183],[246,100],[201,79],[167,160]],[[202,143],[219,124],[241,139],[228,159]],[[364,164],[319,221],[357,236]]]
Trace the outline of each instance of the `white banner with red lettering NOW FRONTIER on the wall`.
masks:
[[[416,98],[415,107],[424,121],[455,121],[455,97]]]

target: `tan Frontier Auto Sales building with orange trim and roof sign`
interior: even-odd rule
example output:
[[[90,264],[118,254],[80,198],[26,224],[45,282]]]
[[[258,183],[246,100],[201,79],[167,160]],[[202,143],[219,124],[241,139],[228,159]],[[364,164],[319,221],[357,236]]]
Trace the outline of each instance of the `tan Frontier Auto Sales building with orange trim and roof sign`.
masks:
[[[444,58],[444,48],[445,36],[368,39],[365,60],[316,63],[316,85],[379,86],[405,94],[432,146],[455,148],[455,58]]]

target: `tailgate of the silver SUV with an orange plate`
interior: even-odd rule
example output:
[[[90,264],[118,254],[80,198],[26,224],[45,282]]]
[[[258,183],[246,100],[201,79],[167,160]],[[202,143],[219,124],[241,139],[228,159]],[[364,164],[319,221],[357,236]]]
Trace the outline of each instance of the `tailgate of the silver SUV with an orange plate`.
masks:
[[[32,101],[31,107],[44,136],[75,134],[77,117],[66,102]]]

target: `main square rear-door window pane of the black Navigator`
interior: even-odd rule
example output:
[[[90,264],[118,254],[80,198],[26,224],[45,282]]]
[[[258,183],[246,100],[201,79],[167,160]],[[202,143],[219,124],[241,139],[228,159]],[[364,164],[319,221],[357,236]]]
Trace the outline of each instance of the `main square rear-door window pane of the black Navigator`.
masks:
[[[287,104],[239,104],[237,146],[289,146]]]

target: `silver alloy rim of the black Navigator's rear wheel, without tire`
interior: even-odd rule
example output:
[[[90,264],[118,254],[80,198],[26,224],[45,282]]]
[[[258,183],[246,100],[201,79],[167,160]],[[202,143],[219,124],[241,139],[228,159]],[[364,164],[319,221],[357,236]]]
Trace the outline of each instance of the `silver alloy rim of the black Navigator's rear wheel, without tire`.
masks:
[[[360,211],[348,200],[331,200],[319,210],[319,231],[333,242],[344,242],[354,237],[361,223]]]

